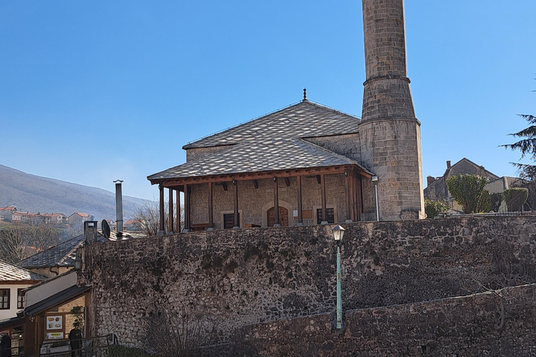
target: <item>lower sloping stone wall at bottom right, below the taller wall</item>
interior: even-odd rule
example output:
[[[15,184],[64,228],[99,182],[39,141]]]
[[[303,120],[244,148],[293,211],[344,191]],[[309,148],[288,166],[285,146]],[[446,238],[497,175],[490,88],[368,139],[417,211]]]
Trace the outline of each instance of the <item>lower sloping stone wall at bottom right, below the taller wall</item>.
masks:
[[[350,310],[342,331],[333,321],[320,314],[244,326],[228,356],[534,356],[536,286]]]

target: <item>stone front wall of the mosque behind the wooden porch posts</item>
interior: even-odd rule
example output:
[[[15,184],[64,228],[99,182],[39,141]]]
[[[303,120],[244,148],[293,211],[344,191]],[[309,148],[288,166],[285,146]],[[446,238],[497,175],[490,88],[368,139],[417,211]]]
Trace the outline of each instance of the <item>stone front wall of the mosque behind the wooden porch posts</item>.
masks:
[[[326,206],[334,208],[335,222],[344,222],[346,219],[345,185],[343,174],[326,175]],[[238,207],[240,213],[240,226],[244,224],[260,225],[267,227],[267,211],[274,206],[274,181],[271,179],[258,180],[258,188],[253,186],[253,181],[237,181],[238,184]],[[223,185],[216,184],[212,191],[212,204],[214,207],[214,227],[223,229],[223,213],[234,212],[234,192],[232,183],[228,183],[228,190],[223,190]],[[192,224],[208,223],[208,185],[191,185],[191,222]],[[296,178],[290,178],[290,186],[283,179],[278,179],[279,206],[288,209],[289,225],[297,223],[293,220],[292,211],[297,206],[297,183]],[[316,210],[321,208],[320,184],[315,176],[302,177],[301,179],[301,202],[303,209],[313,210],[313,219],[304,220],[304,225],[315,225]]]

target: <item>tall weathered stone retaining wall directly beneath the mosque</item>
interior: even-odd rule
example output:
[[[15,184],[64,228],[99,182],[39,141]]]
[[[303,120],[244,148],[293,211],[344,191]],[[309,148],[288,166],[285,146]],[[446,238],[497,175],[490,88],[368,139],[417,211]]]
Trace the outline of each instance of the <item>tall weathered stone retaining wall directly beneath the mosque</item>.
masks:
[[[332,227],[332,226],[331,226]],[[330,226],[232,229],[82,248],[94,334],[144,347],[158,307],[237,326],[331,312]],[[535,282],[536,217],[463,217],[344,225],[345,310],[463,296]],[[80,283],[87,281],[80,278]]]

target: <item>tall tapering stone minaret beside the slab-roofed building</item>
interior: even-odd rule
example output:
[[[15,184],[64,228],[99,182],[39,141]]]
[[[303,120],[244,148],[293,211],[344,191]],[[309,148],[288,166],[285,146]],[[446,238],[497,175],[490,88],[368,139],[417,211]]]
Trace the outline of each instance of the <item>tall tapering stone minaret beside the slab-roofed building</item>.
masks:
[[[362,163],[378,175],[381,220],[424,218],[420,123],[406,70],[403,0],[363,0],[363,23]],[[371,183],[366,186],[373,192]],[[365,196],[370,219],[374,198]]]

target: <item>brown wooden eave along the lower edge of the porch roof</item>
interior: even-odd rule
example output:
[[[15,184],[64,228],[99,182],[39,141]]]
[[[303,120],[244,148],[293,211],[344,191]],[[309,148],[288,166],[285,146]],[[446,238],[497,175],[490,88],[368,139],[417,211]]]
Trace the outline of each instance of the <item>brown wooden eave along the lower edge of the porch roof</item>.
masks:
[[[220,183],[230,181],[247,181],[247,180],[259,180],[259,179],[271,179],[273,177],[284,178],[293,176],[308,176],[308,175],[320,175],[320,174],[341,174],[345,171],[355,172],[364,177],[371,178],[373,174],[364,170],[358,165],[336,165],[329,167],[312,167],[305,169],[288,169],[288,170],[276,170],[266,172],[244,172],[237,174],[223,174],[223,175],[210,175],[210,176],[191,176],[181,177],[177,179],[153,179],[149,180],[151,185],[161,184],[165,188],[177,189],[184,184],[193,185],[197,183]]]

